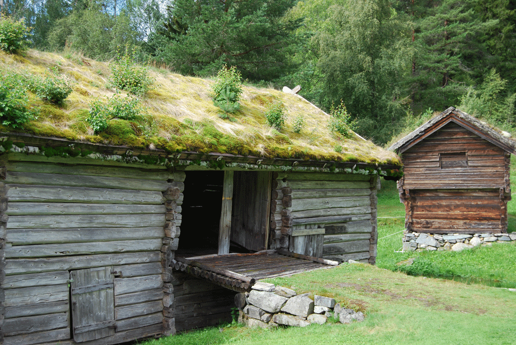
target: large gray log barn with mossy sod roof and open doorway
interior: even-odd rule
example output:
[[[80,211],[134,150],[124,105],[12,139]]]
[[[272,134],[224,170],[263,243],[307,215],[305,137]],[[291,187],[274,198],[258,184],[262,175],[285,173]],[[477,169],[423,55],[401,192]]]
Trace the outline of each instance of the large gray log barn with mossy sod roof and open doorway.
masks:
[[[236,291],[260,279],[375,263],[377,180],[400,175],[396,154],[335,139],[328,114],[275,90],[244,87],[224,120],[211,81],[170,73],[150,72],[150,122],[114,119],[93,133],[77,100],[90,94],[84,80],[107,84],[96,71],[108,67],[65,60],[60,73],[77,82],[66,107],[40,102],[38,119],[0,125],[0,342],[168,336],[231,320]],[[281,133],[263,115],[278,100]],[[308,128],[297,134],[299,114]]]

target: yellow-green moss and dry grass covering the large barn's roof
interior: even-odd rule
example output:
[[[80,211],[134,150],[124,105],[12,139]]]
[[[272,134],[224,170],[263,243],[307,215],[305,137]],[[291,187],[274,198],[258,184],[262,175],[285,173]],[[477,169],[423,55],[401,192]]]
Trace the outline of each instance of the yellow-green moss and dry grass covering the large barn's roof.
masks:
[[[51,74],[51,70],[72,84],[73,92],[65,102],[61,106],[50,105],[30,94],[31,108],[37,119],[17,129],[0,126],[0,131],[168,152],[219,152],[264,158],[401,165],[396,154],[358,135],[337,138],[328,129],[329,115],[297,95],[245,85],[240,110],[227,120],[218,116],[219,109],[213,105],[210,95],[213,80],[173,74],[155,67],[149,69],[154,80],[152,90],[141,98],[150,114],[147,125],[111,120],[105,131],[94,134],[85,121],[90,103],[117,93],[110,87],[108,63],[76,53],[28,50],[20,56],[0,51],[1,73],[43,76]],[[268,107],[277,101],[283,103],[286,114],[281,132],[270,127],[264,116]],[[293,124],[299,115],[304,117],[305,126],[300,133],[295,133]]]

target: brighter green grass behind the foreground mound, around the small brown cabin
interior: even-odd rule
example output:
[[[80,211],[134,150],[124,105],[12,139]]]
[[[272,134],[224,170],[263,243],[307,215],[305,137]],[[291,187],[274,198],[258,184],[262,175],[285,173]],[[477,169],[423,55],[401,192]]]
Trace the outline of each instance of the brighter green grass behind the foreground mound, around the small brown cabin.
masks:
[[[509,202],[509,219],[516,218],[514,202]],[[412,275],[516,288],[516,243],[495,243],[492,247],[475,248],[460,253],[400,253],[397,251],[401,249],[404,217],[405,208],[399,202],[395,183],[382,181],[378,197],[378,267],[401,270]],[[509,228],[509,231],[513,229]],[[414,258],[414,263],[410,266],[396,265],[407,258]]]

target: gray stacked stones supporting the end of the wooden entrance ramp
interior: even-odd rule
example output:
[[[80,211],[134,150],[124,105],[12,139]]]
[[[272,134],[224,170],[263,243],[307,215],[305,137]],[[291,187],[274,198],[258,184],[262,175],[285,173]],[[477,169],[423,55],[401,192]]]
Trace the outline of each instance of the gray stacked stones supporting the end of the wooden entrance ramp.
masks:
[[[324,324],[329,317],[342,323],[363,321],[364,314],[342,307],[333,298],[296,291],[274,284],[258,282],[250,292],[235,296],[239,309],[238,322],[250,327],[270,328],[278,325],[305,327],[312,323]]]

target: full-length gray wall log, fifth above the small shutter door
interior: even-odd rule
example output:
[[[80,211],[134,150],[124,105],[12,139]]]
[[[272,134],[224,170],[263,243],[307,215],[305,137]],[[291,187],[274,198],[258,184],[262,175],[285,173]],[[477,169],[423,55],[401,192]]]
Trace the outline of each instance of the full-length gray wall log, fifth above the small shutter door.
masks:
[[[76,202],[14,202],[9,201],[6,214],[16,215],[77,215],[77,214],[165,214],[165,205],[99,204]]]

